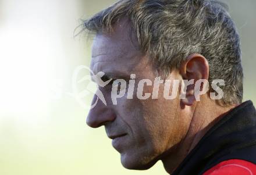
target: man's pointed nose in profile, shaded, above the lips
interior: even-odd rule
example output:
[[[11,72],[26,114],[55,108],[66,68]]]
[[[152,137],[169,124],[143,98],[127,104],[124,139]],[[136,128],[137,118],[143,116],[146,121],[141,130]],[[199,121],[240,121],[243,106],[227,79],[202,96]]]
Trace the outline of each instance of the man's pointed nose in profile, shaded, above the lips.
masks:
[[[96,100],[97,96],[94,95],[93,103]],[[98,99],[97,105],[95,105],[94,108],[88,113],[86,120],[87,125],[97,128],[104,125],[106,122],[114,121],[116,119],[115,112],[113,112],[113,109],[109,107],[108,103],[105,105],[101,100]]]

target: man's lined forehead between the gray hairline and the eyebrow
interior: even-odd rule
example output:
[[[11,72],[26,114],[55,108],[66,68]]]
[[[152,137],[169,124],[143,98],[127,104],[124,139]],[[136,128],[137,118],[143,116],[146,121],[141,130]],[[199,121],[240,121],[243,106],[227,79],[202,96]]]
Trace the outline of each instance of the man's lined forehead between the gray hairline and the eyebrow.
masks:
[[[94,73],[134,73],[142,54],[129,34],[127,27],[121,25],[112,34],[97,34],[94,37],[91,58],[91,70]]]

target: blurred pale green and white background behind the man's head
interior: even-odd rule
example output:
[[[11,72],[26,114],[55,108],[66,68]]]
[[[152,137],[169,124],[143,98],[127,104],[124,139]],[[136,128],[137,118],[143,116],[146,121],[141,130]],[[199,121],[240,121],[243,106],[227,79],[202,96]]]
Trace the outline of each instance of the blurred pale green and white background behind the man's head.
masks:
[[[80,21],[115,1],[0,0],[0,174],[166,174],[162,163],[126,170],[103,127],[72,96],[72,74],[90,62]],[[244,101],[256,103],[256,1],[229,0],[241,37]],[[89,103],[91,96],[85,101]]]

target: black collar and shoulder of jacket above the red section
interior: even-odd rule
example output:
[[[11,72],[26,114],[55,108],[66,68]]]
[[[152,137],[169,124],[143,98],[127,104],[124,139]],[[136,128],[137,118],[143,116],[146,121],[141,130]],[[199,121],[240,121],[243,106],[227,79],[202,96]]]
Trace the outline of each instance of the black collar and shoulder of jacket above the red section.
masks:
[[[210,128],[172,175],[203,174],[228,159],[256,163],[256,111],[251,101],[230,110]]]

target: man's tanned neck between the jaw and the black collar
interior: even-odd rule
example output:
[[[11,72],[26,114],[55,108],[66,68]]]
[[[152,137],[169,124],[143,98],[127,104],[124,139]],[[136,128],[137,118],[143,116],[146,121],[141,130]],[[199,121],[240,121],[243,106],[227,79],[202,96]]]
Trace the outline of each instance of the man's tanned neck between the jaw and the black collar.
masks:
[[[214,126],[230,109],[235,106],[222,107],[214,101],[208,99],[197,102],[194,106],[189,106],[191,120],[187,129],[187,134],[183,140],[177,145],[176,149],[169,152],[163,159],[163,166],[166,172],[172,172],[180,165],[182,160],[186,158],[189,152],[197,145],[201,138],[207,133],[209,128]],[[189,115],[187,113],[187,115]]]

